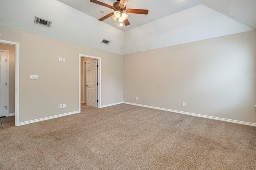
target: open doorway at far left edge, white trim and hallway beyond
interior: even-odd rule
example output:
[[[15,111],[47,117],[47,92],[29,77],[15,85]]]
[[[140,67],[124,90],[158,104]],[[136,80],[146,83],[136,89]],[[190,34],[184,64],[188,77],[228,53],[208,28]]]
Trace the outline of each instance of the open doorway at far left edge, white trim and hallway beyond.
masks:
[[[5,101],[1,116],[15,116],[15,126],[19,126],[19,43],[0,40],[0,55],[0,65],[5,66],[0,77],[1,100]]]

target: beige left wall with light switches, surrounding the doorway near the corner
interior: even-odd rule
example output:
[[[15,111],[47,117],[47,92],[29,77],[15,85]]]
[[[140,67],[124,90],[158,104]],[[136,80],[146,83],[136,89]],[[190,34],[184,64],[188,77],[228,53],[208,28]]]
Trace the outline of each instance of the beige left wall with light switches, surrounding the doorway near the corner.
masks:
[[[123,100],[122,55],[4,26],[0,30],[2,40],[20,43],[20,122],[78,111],[79,54],[102,59],[102,105]],[[38,80],[30,80],[30,74]],[[59,109],[62,103],[65,109]]]

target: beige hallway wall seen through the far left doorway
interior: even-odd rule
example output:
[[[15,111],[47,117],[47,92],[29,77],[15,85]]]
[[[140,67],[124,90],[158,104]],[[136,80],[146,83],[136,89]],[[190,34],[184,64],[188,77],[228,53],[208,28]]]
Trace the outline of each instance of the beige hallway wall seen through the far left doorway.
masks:
[[[15,113],[15,46],[0,43],[0,49],[9,51],[9,113]]]

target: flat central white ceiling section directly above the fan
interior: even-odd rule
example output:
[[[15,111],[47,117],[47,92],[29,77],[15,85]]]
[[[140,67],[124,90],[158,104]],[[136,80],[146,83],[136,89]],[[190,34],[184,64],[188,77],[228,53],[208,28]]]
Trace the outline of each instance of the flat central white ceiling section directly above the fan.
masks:
[[[90,0],[58,0],[71,6],[85,14],[96,18],[102,18],[103,16],[114,12],[114,10],[107,8],[105,6],[101,6],[95,3],[90,2]],[[100,2],[104,2],[105,4],[113,5],[116,0],[98,0]],[[193,6],[197,6],[201,4],[201,0],[128,0],[126,4],[126,8],[135,8],[135,9],[146,9],[149,10],[148,15],[143,14],[128,14],[128,20],[130,25],[128,26],[118,26],[118,22],[112,20],[112,18],[108,18],[103,22],[118,28],[122,31],[128,31],[138,26],[142,26],[149,22],[158,20],[165,16],[169,16],[176,12],[180,12],[182,10],[186,10]],[[100,10],[104,10],[104,13],[100,13]],[[101,21],[99,21],[101,22]]]

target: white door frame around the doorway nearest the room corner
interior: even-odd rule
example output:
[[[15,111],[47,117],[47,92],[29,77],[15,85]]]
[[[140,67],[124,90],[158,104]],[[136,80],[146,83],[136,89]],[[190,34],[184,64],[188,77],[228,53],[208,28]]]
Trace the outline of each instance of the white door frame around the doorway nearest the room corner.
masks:
[[[92,59],[98,59],[98,108],[101,108],[101,58],[90,55],[79,54],[79,112],[81,112],[81,57],[87,57]]]

